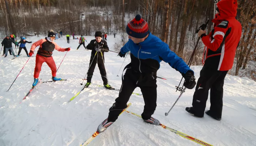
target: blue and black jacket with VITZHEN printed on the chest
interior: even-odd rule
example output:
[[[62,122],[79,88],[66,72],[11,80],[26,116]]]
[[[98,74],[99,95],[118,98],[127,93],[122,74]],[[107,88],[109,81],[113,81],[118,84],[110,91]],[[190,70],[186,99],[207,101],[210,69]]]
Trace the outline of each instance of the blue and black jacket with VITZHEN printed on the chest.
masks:
[[[121,53],[125,54],[128,51],[131,51],[131,68],[141,73],[157,73],[161,61],[165,61],[183,74],[191,70],[182,58],[169,49],[165,42],[151,33],[145,41],[138,44],[129,39],[121,48]]]

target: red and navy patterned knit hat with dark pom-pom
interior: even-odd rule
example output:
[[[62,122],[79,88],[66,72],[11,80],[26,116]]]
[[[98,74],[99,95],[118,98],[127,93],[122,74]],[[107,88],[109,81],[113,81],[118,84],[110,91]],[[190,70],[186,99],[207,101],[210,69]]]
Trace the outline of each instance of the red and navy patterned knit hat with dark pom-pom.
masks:
[[[144,38],[148,35],[149,29],[147,22],[139,14],[131,20],[126,27],[126,33],[134,38]]]

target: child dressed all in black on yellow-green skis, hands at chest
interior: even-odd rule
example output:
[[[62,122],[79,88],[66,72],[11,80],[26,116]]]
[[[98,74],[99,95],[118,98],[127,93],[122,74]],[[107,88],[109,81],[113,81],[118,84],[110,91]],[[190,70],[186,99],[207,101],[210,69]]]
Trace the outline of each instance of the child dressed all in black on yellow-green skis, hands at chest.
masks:
[[[91,42],[86,46],[86,48],[88,50],[92,50],[90,64],[89,64],[91,66],[90,66],[90,68],[88,70],[88,74],[87,74],[86,88],[91,84],[91,78],[93,77],[93,72],[94,72],[95,66],[96,66],[96,64],[98,64],[99,72],[101,73],[101,78],[102,78],[104,87],[107,89],[113,89],[113,87],[111,87],[108,84],[108,78],[107,78],[106,69],[105,69],[105,65],[104,65],[104,61],[103,61],[104,52],[108,52],[109,47],[107,45],[107,42],[102,40],[101,34],[102,33],[100,31],[95,32],[95,39],[91,40]],[[105,50],[102,50],[102,49],[105,49]],[[97,54],[96,54],[96,52],[97,52]],[[96,54],[96,56],[94,57],[95,54]]]

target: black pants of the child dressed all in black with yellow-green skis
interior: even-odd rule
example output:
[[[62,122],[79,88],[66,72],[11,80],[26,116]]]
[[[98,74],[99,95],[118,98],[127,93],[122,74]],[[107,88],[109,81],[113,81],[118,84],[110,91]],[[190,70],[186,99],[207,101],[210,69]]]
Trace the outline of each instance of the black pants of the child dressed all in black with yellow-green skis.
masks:
[[[106,84],[108,84],[108,79],[107,79],[107,75],[106,75],[106,70],[105,70],[104,62],[103,62],[102,57],[98,58],[99,55],[101,55],[100,53],[97,53],[96,55],[97,56],[95,56],[94,60],[92,60],[94,56],[91,55],[90,64],[92,62],[93,63],[91,64],[91,67],[88,70],[87,82],[91,82],[91,78],[93,77],[93,72],[94,72],[95,66],[96,66],[96,64],[98,64],[99,72],[101,73],[101,78],[102,78],[103,84],[106,85]],[[97,59],[99,59],[99,60],[97,61]]]

